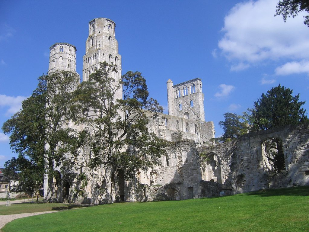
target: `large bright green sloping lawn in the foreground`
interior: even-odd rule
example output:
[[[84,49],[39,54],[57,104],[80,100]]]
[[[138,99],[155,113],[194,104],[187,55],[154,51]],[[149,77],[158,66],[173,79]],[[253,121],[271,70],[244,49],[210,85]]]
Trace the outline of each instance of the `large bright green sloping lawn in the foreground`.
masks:
[[[10,231],[309,231],[309,187],[234,196],[120,203],[16,219]],[[0,210],[1,211],[1,210]]]

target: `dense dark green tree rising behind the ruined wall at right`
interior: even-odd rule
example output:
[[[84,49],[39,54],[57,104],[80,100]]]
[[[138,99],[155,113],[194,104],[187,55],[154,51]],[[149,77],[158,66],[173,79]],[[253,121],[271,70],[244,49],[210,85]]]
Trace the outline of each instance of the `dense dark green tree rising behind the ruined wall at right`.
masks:
[[[298,125],[308,122],[306,110],[301,106],[299,94],[293,97],[293,90],[280,84],[262,94],[251,109],[251,131],[267,130],[286,125]]]

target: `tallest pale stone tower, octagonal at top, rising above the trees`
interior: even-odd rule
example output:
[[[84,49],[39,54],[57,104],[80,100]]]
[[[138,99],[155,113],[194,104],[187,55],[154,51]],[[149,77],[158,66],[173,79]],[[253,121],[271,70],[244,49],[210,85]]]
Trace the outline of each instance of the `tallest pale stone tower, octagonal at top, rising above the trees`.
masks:
[[[118,73],[111,73],[115,81],[121,80],[121,55],[118,54],[118,42],[115,38],[116,24],[105,18],[89,22],[89,36],[86,41],[86,54],[83,56],[83,81],[99,69],[99,62],[117,65]],[[115,98],[122,99],[122,90],[116,92]]]

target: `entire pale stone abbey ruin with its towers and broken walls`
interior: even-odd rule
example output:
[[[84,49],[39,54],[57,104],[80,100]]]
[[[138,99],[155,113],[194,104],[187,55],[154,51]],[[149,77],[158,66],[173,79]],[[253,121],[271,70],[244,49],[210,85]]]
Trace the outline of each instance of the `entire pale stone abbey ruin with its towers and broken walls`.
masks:
[[[114,63],[121,79],[121,55],[115,38],[115,23],[97,18],[89,23],[86,54],[83,56],[83,81],[99,69],[100,62]],[[50,47],[49,73],[76,72],[76,48],[68,43]],[[121,89],[116,98],[122,99]],[[287,126],[243,135],[236,142],[214,145],[214,124],[205,121],[202,80],[194,78],[174,84],[167,80],[168,114],[151,114],[148,129],[170,141],[161,165],[139,170],[125,180],[118,173],[120,199],[115,195],[108,168],[84,169],[87,186],[83,196],[78,176],[82,169],[61,172],[53,178],[54,199],[58,202],[104,204],[115,201],[184,200],[231,195],[269,187],[309,185],[309,125]],[[263,142],[280,139],[285,170],[272,170]],[[44,177],[44,194],[48,190]]]

